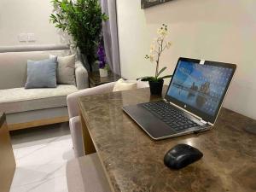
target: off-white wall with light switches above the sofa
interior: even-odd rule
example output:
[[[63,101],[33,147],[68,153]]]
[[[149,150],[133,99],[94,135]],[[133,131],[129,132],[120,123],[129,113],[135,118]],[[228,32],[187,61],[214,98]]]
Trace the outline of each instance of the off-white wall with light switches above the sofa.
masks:
[[[17,44],[61,44],[61,36],[49,23],[50,0],[0,0],[0,46]],[[22,32],[35,33],[36,42],[20,43]]]

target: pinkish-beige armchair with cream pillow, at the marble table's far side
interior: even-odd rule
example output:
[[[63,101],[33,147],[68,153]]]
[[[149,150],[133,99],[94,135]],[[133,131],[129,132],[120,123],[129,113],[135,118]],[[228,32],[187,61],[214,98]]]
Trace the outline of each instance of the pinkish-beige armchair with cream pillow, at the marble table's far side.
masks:
[[[84,141],[83,132],[79,118],[79,97],[90,96],[113,92],[113,87],[116,83],[102,84],[86,90],[79,90],[67,96],[67,108],[69,115],[69,127],[73,141],[73,150],[75,157],[84,156]],[[137,81],[137,89],[148,87],[148,82]]]

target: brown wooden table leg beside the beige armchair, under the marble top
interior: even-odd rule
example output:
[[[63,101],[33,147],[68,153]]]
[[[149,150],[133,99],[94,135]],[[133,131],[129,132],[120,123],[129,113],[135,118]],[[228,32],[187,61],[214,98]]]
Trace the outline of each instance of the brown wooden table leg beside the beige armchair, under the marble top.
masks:
[[[83,131],[84,154],[94,154],[96,153],[96,148],[91,140],[90,133],[87,129],[87,125],[81,113],[80,113],[80,122],[82,125],[82,131]]]

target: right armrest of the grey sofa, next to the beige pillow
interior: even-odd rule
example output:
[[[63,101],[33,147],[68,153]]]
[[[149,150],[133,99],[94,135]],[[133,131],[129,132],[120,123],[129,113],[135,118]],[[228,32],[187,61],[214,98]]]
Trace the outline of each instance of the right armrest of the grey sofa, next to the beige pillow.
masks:
[[[89,87],[88,83],[88,73],[81,61],[76,61],[75,63],[75,75],[77,88],[83,90]]]

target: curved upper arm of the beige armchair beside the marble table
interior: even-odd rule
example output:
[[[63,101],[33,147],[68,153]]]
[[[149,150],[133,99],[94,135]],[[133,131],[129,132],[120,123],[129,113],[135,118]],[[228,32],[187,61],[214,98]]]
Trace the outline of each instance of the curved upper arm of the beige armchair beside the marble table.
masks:
[[[79,96],[90,96],[112,92],[114,84],[115,82],[111,82],[69,94],[67,96],[67,109],[69,118],[73,118],[79,115]]]

